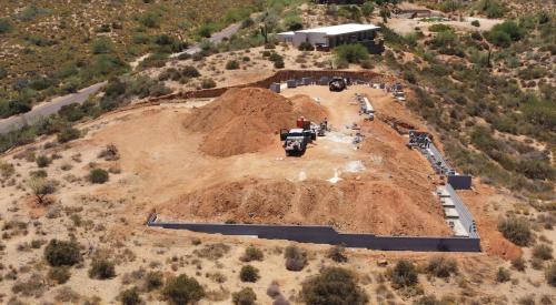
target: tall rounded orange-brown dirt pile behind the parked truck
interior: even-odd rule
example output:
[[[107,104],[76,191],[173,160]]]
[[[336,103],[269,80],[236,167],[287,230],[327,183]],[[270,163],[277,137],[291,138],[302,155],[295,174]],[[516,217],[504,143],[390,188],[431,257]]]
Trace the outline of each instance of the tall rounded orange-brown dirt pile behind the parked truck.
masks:
[[[326,110],[305,95],[288,100],[260,88],[231,89],[210,104],[195,109],[185,128],[206,133],[199,149],[214,156],[257,152],[275,141],[296,119],[320,122]]]

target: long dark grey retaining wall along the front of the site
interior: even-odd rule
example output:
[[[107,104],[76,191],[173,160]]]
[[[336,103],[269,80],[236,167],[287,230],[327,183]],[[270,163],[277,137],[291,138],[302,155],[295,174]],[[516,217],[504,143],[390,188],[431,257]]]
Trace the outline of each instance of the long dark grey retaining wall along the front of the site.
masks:
[[[480,240],[469,237],[381,236],[374,234],[339,233],[331,226],[215,224],[158,222],[152,215],[148,226],[189,230],[193,232],[257,236],[266,240],[287,240],[300,243],[345,245],[383,251],[480,252]]]

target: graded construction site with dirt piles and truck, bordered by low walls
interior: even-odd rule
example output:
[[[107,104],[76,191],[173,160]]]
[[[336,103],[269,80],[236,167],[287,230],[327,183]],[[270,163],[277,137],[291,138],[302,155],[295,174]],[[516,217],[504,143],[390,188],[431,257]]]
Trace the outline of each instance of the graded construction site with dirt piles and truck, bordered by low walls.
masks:
[[[305,77],[272,82],[269,88],[232,88],[179,111],[181,139],[172,142],[188,143],[176,148],[181,162],[148,160],[153,169],[167,164],[179,169],[179,179],[172,183],[179,184],[179,192],[155,201],[149,225],[211,224],[217,228],[182,228],[260,237],[265,237],[262,232],[238,231],[239,225],[265,225],[265,230],[319,225],[380,236],[455,237],[457,243],[470,238],[469,248],[451,250],[480,250],[473,217],[447,183],[455,173],[440,169],[447,166],[440,164],[445,161],[431,160],[425,151],[430,150],[434,136],[405,109],[400,84]],[[414,136],[417,131],[420,138]],[[108,129],[102,134],[116,133]],[[128,142],[102,141],[118,146]],[[437,153],[433,157],[441,157],[434,144],[431,149]],[[131,159],[143,155],[136,148],[129,153]],[[270,235],[267,238],[296,241],[295,236],[304,234]],[[297,240],[345,243],[335,237]],[[439,243],[425,248],[360,246],[450,251]]]

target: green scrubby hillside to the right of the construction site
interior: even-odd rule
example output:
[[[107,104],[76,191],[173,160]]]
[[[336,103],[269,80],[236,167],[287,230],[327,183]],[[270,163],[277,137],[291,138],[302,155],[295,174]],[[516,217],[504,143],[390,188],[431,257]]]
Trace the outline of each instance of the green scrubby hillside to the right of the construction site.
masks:
[[[463,171],[552,197],[555,27],[553,13],[538,11],[487,32],[434,27],[429,37],[400,37],[385,29],[393,51],[384,59],[415,89],[408,105],[443,132]]]

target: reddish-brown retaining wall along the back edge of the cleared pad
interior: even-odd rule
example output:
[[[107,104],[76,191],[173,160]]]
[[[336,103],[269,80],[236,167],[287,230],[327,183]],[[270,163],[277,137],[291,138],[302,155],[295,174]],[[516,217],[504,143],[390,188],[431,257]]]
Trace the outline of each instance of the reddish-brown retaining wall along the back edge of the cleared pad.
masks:
[[[322,77],[341,77],[349,78],[353,80],[364,81],[364,82],[386,82],[389,80],[389,77],[384,74],[375,73],[371,71],[340,71],[340,70],[280,70],[276,72],[274,75],[266,78],[260,81],[232,85],[232,87],[224,87],[224,88],[214,88],[214,89],[205,89],[205,90],[192,90],[192,91],[183,91],[171,93],[158,98],[149,99],[148,102],[159,102],[165,100],[173,100],[173,99],[207,99],[207,98],[217,98],[222,95],[226,91],[232,88],[246,88],[246,87],[256,87],[256,88],[269,88],[271,83],[280,83],[287,80],[301,80],[302,78],[312,78],[314,80],[319,80]]]

